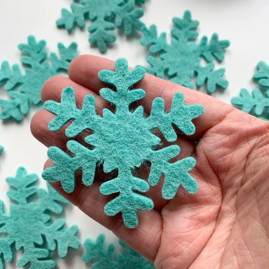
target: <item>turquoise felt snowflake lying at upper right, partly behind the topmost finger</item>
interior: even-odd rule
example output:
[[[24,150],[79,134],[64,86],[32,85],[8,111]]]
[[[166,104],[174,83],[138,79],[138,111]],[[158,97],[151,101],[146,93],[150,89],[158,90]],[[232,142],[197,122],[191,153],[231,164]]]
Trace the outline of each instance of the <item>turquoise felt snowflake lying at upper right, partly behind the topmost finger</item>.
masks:
[[[219,40],[217,34],[213,34],[210,41],[203,36],[200,43],[195,43],[198,36],[196,28],[199,22],[191,19],[191,13],[186,11],[183,19],[173,18],[174,27],[171,30],[171,44],[167,43],[166,33],[157,35],[157,28],[151,25],[144,27],[144,37],[140,42],[149,46],[147,62],[150,68],[145,70],[159,78],[168,78],[170,81],[182,86],[193,88],[191,79],[196,75],[196,86],[203,84],[207,93],[212,93],[217,87],[225,89],[228,81],[223,78],[225,69],[214,70],[212,63],[214,58],[224,60],[224,49],[230,45],[228,40]],[[202,66],[201,59],[207,63]]]

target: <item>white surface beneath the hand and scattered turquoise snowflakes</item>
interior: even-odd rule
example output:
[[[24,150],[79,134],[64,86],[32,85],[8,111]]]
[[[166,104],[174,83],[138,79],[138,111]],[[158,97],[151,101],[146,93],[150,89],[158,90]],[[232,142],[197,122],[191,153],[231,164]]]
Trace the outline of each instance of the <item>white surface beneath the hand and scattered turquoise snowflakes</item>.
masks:
[[[76,28],[72,34],[68,34],[65,29],[58,29],[55,22],[61,17],[61,9],[70,10],[71,3],[72,0],[0,0],[0,62],[8,60],[11,64],[20,63],[21,55],[17,45],[26,43],[28,35],[34,35],[37,40],[47,41],[48,52],[58,53],[58,42],[69,45],[76,41],[80,54],[91,53],[113,60],[125,57],[130,66],[146,65],[147,51],[140,45],[138,37],[117,36],[113,48],[101,54],[87,41],[86,29],[89,22],[84,30]],[[172,18],[182,17],[185,10],[190,10],[192,18],[200,22],[198,41],[203,35],[210,37],[215,32],[219,34],[220,39],[231,41],[230,47],[226,50],[226,58],[220,64],[226,68],[225,77],[230,83],[229,87],[225,91],[217,90],[212,94],[224,102],[230,104],[231,97],[238,95],[242,87],[252,90],[255,83],[251,78],[256,64],[261,60],[269,64],[267,0],[147,0],[144,9],[142,21],[147,26],[156,24],[159,32],[169,33]],[[117,34],[117,30],[115,33]],[[7,98],[3,84],[0,88],[0,97]],[[200,90],[204,91],[203,88]],[[33,111],[21,123],[0,122],[0,144],[5,146],[5,152],[0,157],[0,198],[5,201],[6,211],[10,203],[6,197],[6,191],[9,189],[5,182],[6,177],[15,176],[19,166],[24,166],[28,173],[40,176],[47,158],[45,146],[31,135],[29,126],[32,115]],[[42,179],[39,184],[45,185]],[[68,227],[73,224],[79,226],[82,242],[87,237],[95,239],[101,232],[107,235],[107,242],[117,242],[110,231],[74,206],[67,207],[65,218]],[[58,259],[58,267],[89,268],[81,262],[82,253],[82,248],[80,252],[71,251],[66,260]],[[13,268],[15,264],[7,263],[7,268]]]

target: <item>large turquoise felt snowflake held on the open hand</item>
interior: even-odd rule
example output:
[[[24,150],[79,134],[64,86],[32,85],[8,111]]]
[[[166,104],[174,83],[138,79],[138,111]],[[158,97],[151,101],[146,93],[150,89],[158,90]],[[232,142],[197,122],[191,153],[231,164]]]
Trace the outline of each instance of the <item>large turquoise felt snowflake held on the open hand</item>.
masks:
[[[128,71],[125,59],[116,61],[115,72],[99,72],[101,81],[115,87],[115,90],[100,90],[101,97],[116,106],[115,113],[103,109],[103,117],[96,115],[95,100],[90,94],[85,96],[82,109],[78,109],[71,87],[64,89],[61,103],[52,100],[45,102],[45,109],[57,115],[48,125],[50,131],[57,131],[72,120],[65,131],[68,137],[75,137],[85,129],[91,130],[92,134],[85,138],[91,148],[75,140],[68,141],[67,147],[72,152],[71,155],[58,147],[50,147],[48,157],[54,166],[43,171],[43,178],[50,182],[61,181],[64,190],[72,192],[77,170],[82,171],[85,185],[92,184],[96,164],[103,164],[105,173],[116,170],[117,177],[100,186],[100,192],[104,195],[119,193],[105,205],[104,212],[108,216],[122,212],[128,228],[138,225],[139,209],[150,210],[153,207],[152,200],[141,194],[149,189],[147,181],[135,176],[135,169],[143,163],[151,163],[148,178],[150,185],[156,185],[160,176],[165,175],[162,190],[165,199],[173,198],[179,185],[190,193],[196,192],[198,188],[195,180],[188,174],[195,165],[195,159],[187,157],[170,163],[169,160],[179,154],[180,147],[171,145],[156,150],[161,141],[152,129],[159,129],[169,142],[177,139],[172,124],[184,134],[192,135],[195,127],[191,120],[203,113],[203,107],[199,104],[185,106],[183,94],[177,92],[169,113],[165,112],[164,100],[161,98],[153,100],[151,113],[147,118],[142,106],[131,111],[130,104],[145,95],[144,90],[132,88],[144,75],[145,71],[140,67]]]

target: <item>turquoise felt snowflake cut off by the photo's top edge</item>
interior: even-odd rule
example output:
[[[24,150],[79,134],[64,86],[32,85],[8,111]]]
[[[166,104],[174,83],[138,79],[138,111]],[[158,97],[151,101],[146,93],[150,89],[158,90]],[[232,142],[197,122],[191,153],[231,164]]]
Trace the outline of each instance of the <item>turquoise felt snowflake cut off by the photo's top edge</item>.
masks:
[[[88,27],[89,42],[96,44],[105,52],[108,43],[114,42],[116,36],[112,30],[122,27],[126,35],[134,29],[141,30],[144,24],[139,20],[143,10],[137,8],[145,0],[78,0],[71,5],[71,11],[62,9],[62,18],[57,20],[59,27],[72,31],[75,25],[85,26],[85,21],[92,23]]]

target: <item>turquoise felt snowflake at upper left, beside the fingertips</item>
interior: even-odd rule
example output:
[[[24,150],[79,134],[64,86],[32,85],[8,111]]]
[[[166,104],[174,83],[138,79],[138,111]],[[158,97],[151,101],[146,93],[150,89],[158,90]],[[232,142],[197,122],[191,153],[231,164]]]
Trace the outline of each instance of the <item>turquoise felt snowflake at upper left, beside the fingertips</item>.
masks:
[[[0,99],[0,119],[13,118],[21,121],[22,116],[28,114],[30,105],[41,103],[40,91],[44,82],[58,75],[60,70],[67,71],[70,62],[77,56],[76,43],[69,47],[59,43],[60,58],[52,52],[49,55],[49,63],[47,52],[44,51],[45,45],[44,40],[37,42],[34,36],[28,36],[27,44],[19,44],[18,48],[23,53],[21,62],[26,67],[25,74],[22,74],[17,64],[11,69],[8,61],[2,63],[0,82],[5,83],[5,89],[11,99]]]

